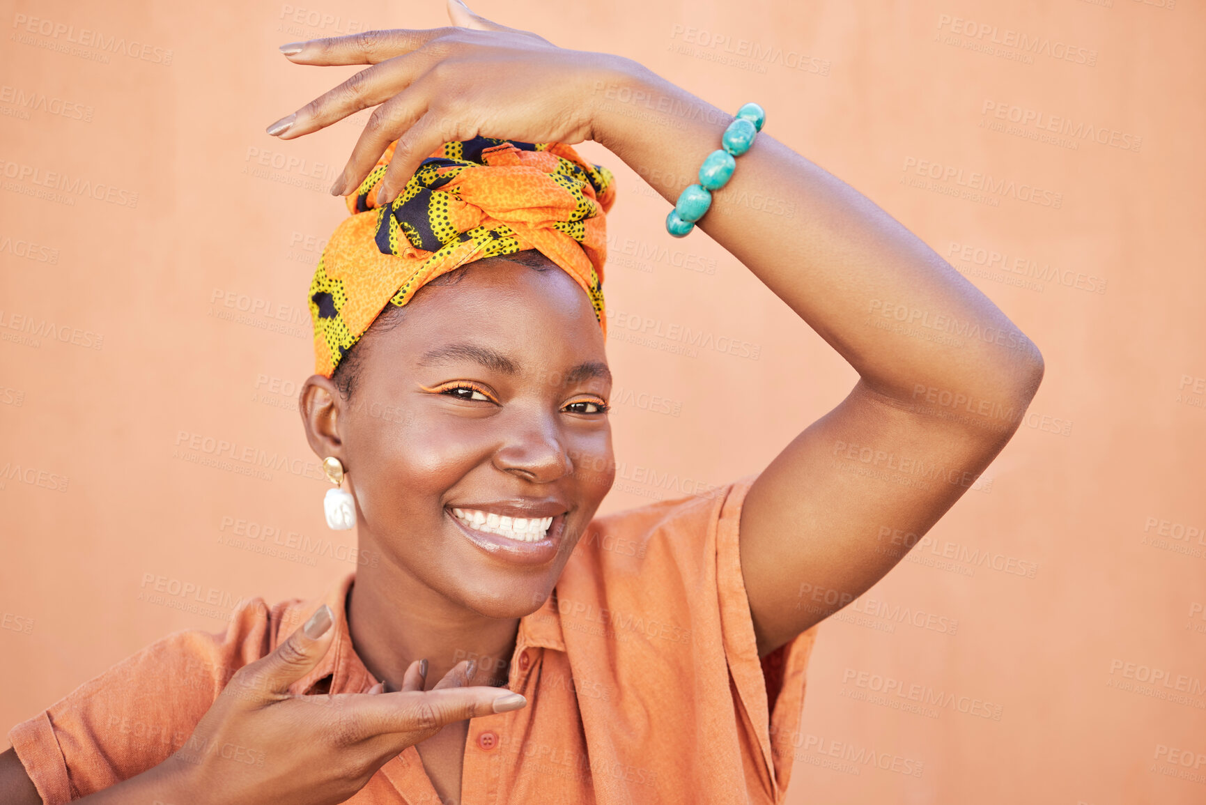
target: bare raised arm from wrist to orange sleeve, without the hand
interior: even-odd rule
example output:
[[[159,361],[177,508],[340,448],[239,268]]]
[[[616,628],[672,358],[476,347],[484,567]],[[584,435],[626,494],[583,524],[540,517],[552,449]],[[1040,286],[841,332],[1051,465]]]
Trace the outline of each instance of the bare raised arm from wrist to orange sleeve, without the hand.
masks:
[[[613,100],[595,139],[671,202],[732,119],[631,62],[598,92]],[[1043,361],[917,235],[767,130],[697,226],[860,375],[747,496],[742,571],[766,654],[866,591],[967,491],[1017,430]]]

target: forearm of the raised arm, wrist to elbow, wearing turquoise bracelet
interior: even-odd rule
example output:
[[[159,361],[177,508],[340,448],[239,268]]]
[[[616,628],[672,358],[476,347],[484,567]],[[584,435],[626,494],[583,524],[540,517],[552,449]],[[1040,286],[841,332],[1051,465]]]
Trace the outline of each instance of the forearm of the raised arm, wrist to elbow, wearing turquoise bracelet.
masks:
[[[732,115],[630,60],[617,65],[595,84],[593,136],[673,203]],[[1032,393],[1034,344],[917,235],[775,140],[774,112],[696,226],[882,395]]]

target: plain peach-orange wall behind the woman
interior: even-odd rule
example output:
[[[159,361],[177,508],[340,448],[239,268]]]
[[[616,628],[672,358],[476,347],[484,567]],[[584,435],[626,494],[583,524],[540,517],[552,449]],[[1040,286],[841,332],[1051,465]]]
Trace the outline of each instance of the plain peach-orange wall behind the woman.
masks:
[[[772,135],[933,246],[1046,357],[1031,414],[980,488],[861,612],[822,626],[790,801],[1204,801],[1200,6],[478,5],[634,58],[721,109],[762,103]],[[0,8],[7,730],[169,631],[222,630],[244,595],[311,595],[355,567],[355,537],[324,526],[294,397],[312,361],[305,290],[346,215],[326,189],[359,128],[263,133],[351,69],[291,66],[276,46],[446,17],[435,0]],[[66,27],[128,52],[72,45]],[[1000,45],[1008,31],[1041,52]],[[1101,141],[1042,138],[1025,110]],[[671,239],[667,203],[615,157],[582,151],[619,180],[609,307],[759,346],[756,360],[675,354],[613,325],[616,393],[633,393],[614,414],[620,478],[603,511],[760,469],[854,372],[702,232]],[[48,193],[52,173],[92,191]],[[973,173],[1014,192],[960,196]],[[23,329],[43,322],[49,337]],[[193,434],[288,468],[183,460]],[[234,543],[246,527],[279,555]],[[338,550],[280,555],[291,533]],[[157,577],[218,603],[148,600]],[[880,687],[939,704],[913,712]]]

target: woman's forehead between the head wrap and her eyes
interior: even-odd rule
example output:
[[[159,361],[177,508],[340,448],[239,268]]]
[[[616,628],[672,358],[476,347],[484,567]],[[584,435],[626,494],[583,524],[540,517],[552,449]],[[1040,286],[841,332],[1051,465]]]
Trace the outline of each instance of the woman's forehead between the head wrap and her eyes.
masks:
[[[373,372],[474,362],[507,374],[607,366],[604,339],[586,292],[561,268],[504,259],[472,264],[449,285],[426,285],[400,322],[374,340]],[[461,270],[461,269],[456,269]],[[382,361],[384,362],[384,361]]]

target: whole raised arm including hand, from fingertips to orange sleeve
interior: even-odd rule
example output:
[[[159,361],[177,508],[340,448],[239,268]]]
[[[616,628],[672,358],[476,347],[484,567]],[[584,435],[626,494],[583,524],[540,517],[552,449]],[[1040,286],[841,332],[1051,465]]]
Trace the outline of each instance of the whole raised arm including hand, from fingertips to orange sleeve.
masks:
[[[282,48],[297,64],[371,66],[269,133],[294,139],[376,106],[332,191],[358,185],[398,140],[381,200],[449,140],[593,139],[673,203],[732,121],[631,59],[556,47],[457,0],[449,14],[456,27]],[[747,497],[742,567],[763,654],[900,561],[1005,447],[1043,374],[1038,350],[988,297],[865,196],[775,140],[767,105],[769,129],[738,157],[697,226],[860,380]],[[796,215],[789,224],[754,198],[791,204]]]

